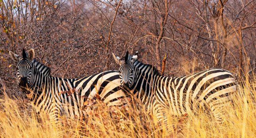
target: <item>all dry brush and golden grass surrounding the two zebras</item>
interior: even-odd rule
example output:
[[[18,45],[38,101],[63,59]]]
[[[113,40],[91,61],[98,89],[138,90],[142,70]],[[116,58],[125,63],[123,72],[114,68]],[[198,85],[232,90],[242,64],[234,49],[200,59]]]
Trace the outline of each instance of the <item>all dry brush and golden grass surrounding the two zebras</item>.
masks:
[[[0,0],[0,137],[256,137],[255,0]],[[51,75],[78,78],[118,69],[112,52],[139,52],[164,75],[211,67],[239,83],[224,124],[206,112],[169,117],[171,134],[137,99],[93,100],[84,120],[52,126],[19,91],[9,51],[34,48]],[[166,55],[166,63],[162,65]]]

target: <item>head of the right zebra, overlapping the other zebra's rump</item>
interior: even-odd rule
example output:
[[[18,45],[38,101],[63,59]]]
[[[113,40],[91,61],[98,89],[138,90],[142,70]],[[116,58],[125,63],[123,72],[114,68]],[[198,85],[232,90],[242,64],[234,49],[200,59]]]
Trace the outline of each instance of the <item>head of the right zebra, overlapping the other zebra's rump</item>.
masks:
[[[135,60],[137,60],[138,51],[135,53],[134,56],[130,55],[129,52],[127,51],[124,60],[116,56],[114,53],[112,54],[114,56],[116,63],[120,65],[119,77],[121,80],[121,86],[125,85],[131,88],[131,86],[133,86],[135,77],[135,66],[133,65],[133,63],[135,62]]]

